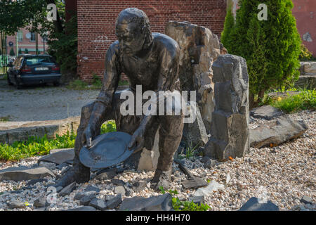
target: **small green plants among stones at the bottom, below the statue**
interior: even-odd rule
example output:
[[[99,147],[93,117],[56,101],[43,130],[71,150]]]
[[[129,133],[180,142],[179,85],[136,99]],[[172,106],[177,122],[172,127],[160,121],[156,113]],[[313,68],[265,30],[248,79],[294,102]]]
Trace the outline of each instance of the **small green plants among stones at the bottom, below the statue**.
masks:
[[[162,194],[166,193],[162,186],[159,187]],[[171,189],[168,191],[172,195],[172,207],[176,211],[207,211],[211,207],[207,204],[197,205],[195,203],[189,201],[180,201],[179,198],[173,197],[173,195],[178,195],[178,191],[172,191]]]

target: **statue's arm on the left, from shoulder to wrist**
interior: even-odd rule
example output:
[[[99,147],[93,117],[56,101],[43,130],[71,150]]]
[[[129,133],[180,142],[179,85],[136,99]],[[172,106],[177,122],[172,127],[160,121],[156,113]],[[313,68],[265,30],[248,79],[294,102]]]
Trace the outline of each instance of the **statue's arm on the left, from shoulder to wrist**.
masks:
[[[118,46],[117,41],[111,44],[105,57],[105,72],[103,76],[103,85],[100,94],[96,98],[88,126],[92,131],[100,129],[103,118],[112,110],[112,99],[119,84],[121,71],[118,64]]]

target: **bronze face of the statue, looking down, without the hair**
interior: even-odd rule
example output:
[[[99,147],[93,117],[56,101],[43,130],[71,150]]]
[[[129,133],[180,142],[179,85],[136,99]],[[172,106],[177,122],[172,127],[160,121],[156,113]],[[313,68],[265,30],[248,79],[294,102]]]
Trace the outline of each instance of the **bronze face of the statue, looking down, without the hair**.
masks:
[[[119,39],[119,48],[126,56],[136,55],[143,49],[145,35],[136,23],[119,23],[116,27],[116,34]]]

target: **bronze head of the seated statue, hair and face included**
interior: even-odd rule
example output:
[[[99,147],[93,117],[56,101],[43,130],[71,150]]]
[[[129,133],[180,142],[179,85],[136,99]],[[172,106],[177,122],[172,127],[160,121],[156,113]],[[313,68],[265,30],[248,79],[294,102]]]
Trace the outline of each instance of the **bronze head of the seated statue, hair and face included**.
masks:
[[[138,8],[126,8],[119,13],[115,24],[119,48],[133,56],[152,43],[152,32],[147,15]]]

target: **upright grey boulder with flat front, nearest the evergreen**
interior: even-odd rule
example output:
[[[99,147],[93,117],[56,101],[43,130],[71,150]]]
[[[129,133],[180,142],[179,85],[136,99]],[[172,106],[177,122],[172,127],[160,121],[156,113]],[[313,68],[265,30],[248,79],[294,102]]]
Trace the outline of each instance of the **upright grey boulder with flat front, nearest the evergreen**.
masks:
[[[213,63],[215,110],[204,155],[223,161],[249,153],[249,84],[246,60],[226,54]]]

